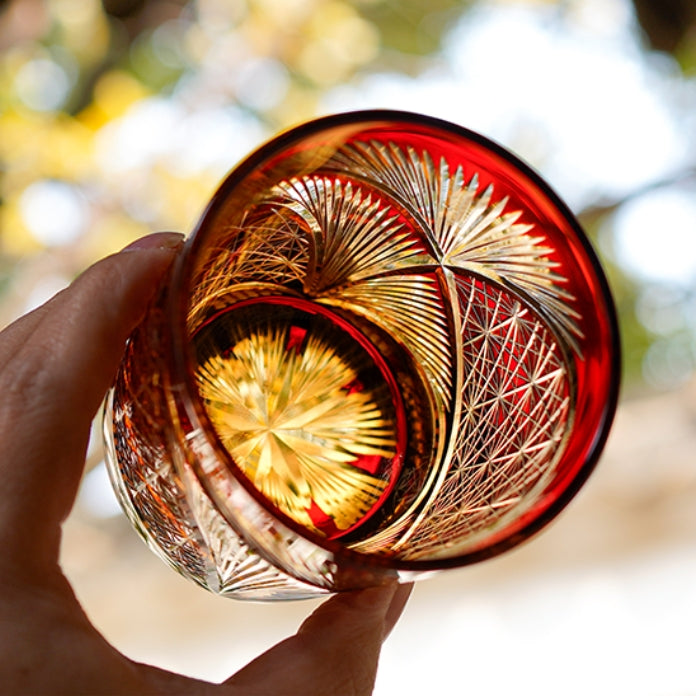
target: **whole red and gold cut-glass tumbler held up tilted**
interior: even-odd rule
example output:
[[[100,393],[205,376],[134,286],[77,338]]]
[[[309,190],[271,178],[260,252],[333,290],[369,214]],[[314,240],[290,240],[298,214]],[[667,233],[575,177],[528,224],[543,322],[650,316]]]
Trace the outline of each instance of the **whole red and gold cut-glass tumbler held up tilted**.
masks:
[[[110,473],[214,592],[411,580],[565,506],[618,365],[597,259],[527,166],[436,119],[332,116],[214,196],[109,393]]]

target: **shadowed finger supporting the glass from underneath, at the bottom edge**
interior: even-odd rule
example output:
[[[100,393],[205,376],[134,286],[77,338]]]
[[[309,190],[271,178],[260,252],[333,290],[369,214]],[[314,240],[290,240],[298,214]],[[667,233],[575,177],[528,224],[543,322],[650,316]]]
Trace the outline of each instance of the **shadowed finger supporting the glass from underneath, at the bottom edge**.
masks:
[[[223,685],[220,693],[271,696],[367,696],[382,641],[410,587],[396,584],[335,595],[292,638],[279,643]]]

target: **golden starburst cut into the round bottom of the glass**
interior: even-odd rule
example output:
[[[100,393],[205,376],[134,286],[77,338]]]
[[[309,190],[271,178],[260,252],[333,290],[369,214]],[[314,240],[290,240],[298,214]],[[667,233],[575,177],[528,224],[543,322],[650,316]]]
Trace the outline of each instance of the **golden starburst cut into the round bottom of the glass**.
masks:
[[[326,533],[318,508],[344,531],[387,486],[361,466],[394,457],[394,423],[379,388],[358,384],[351,360],[321,336],[305,337],[301,349],[294,339],[279,326],[232,339],[229,354],[199,368],[199,389],[221,441],[259,491],[301,524]]]

